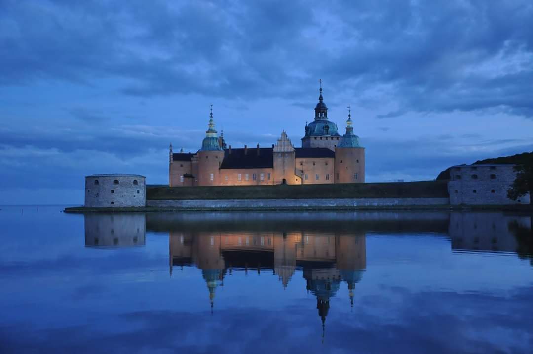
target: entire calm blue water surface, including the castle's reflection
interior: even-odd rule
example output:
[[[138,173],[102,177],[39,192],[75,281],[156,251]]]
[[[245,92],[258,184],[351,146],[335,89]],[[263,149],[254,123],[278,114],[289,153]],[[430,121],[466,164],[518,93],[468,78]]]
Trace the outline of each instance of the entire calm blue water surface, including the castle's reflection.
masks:
[[[531,215],[0,207],[0,352],[531,352]]]

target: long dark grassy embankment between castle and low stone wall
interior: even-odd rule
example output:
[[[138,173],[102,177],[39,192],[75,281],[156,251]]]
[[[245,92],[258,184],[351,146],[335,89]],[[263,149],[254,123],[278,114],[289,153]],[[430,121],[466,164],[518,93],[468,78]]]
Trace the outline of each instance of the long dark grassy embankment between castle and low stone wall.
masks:
[[[147,200],[448,197],[447,181],[146,188]]]

